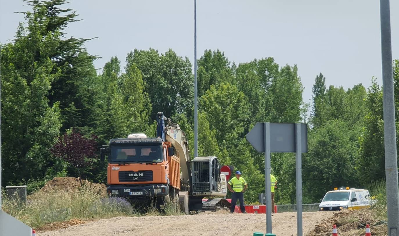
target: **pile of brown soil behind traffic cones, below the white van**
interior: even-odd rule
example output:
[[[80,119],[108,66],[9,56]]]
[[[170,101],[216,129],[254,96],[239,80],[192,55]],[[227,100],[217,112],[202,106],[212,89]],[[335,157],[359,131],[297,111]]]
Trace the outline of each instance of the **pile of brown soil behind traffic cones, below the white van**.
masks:
[[[385,222],[377,220],[372,210],[342,210],[335,212],[334,216],[322,220],[320,224],[306,236],[327,236],[332,233],[332,226],[337,226],[339,235],[357,236],[364,235],[366,224],[370,225],[371,235],[387,235]]]

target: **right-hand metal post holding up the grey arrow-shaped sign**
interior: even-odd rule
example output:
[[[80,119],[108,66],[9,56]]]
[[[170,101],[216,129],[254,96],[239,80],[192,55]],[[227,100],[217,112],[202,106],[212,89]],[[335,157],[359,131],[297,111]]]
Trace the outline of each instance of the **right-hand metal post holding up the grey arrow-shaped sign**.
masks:
[[[295,124],[296,133],[296,235],[302,236],[302,141],[300,128],[301,124]]]

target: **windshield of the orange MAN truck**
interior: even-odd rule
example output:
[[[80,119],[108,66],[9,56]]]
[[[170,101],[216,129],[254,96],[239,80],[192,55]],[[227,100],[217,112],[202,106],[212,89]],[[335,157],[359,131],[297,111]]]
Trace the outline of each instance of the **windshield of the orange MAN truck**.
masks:
[[[110,162],[146,163],[162,162],[163,154],[161,145],[114,145],[111,146]]]

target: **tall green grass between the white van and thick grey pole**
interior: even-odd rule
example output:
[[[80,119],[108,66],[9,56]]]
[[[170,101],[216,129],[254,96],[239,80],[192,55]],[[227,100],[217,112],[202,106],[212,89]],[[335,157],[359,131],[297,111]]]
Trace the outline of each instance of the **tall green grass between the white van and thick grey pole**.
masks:
[[[385,180],[372,182],[368,186],[368,189],[371,197],[376,201],[371,209],[375,212],[377,217],[383,220],[387,219],[387,191]]]

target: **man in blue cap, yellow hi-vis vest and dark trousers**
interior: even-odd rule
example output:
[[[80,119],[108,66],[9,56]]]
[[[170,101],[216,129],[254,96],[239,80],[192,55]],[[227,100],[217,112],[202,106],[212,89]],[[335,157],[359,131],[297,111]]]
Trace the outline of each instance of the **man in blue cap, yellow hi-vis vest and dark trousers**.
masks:
[[[231,188],[233,186],[233,188]],[[231,194],[231,209],[230,213],[234,213],[235,209],[235,204],[237,204],[237,199],[240,201],[240,210],[242,213],[247,213],[245,211],[245,206],[244,206],[244,192],[247,190],[248,184],[247,181],[243,177],[241,177],[241,172],[236,171],[235,172],[235,177],[231,178],[227,184],[227,188],[229,188],[230,192],[233,192]]]

